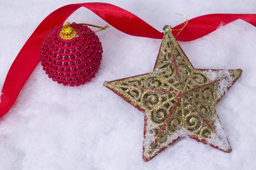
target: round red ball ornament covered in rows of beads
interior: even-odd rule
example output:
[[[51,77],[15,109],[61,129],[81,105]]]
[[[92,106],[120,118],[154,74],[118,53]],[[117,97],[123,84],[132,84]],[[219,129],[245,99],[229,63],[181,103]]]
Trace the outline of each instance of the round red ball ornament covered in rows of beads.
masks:
[[[84,25],[70,27],[80,32],[92,32]],[[62,29],[63,25],[56,26],[42,42],[41,65],[48,77],[59,84],[84,85],[98,72],[103,53],[102,43],[95,33],[76,32],[70,40],[65,40],[60,36]]]

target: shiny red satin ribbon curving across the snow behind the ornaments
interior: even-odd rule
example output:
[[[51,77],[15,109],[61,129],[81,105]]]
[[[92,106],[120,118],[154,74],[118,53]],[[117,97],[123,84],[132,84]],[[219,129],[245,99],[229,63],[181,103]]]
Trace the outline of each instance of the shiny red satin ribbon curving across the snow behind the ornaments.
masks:
[[[23,85],[38,65],[40,61],[39,48],[46,34],[50,29],[64,23],[67,17],[80,7],[90,9],[111,26],[126,34],[156,39],[162,39],[163,37],[163,33],[148,25],[136,15],[108,3],[79,3],[58,8],[40,23],[12,63],[0,98],[0,118],[10,110]],[[195,40],[216,30],[221,24],[226,25],[237,19],[256,26],[256,14],[203,15],[189,20],[188,25],[177,36],[177,40]],[[183,26],[184,23],[175,26],[173,29],[179,29]],[[176,35],[177,31],[174,31],[173,34]]]

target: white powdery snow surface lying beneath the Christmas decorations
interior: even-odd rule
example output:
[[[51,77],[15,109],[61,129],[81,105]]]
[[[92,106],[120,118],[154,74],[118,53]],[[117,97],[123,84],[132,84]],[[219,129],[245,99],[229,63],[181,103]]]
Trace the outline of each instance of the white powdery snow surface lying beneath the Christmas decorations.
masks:
[[[0,86],[38,24],[55,9],[82,0],[0,0]],[[210,13],[255,13],[254,0],[104,0],[162,30]],[[80,8],[67,21],[106,23]],[[184,137],[148,162],[142,159],[144,115],[103,82],[151,72],[161,40],[109,28],[99,73],[81,87],[52,82],[38,65],[15,105],[0,119],[1,170],[253,170],[256,168],[256,28],[242,20],[180,42],[195,68],[243,70],[216,106],[231,153]],[[39,52],[39,51],[38,51]],[[30,56],[32,57],[32,56]]]

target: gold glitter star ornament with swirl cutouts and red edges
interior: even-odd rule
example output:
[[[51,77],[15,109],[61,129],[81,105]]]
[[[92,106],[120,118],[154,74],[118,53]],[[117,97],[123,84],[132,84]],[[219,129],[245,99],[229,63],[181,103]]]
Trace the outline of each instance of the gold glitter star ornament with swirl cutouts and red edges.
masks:
[[[183,136],[231,152],[215,105],[242,70],[196,69],[170,26],[152,73],[105,82],[111,91],[145,115],[143,160],[149,161]]]

